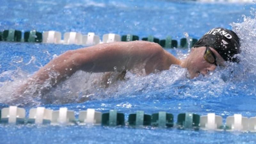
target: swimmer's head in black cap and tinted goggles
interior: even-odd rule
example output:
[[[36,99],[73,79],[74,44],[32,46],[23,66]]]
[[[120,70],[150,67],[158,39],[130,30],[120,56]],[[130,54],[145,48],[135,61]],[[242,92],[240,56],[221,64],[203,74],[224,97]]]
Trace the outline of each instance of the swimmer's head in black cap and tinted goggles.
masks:
[[[236,33],[225,28],[213,28],[199,39],[181,66],[186,67],[190,77],[194,78],[215,70],[217,65],[225,66],[225,61],[238,62],[234,55],[240,52]]]

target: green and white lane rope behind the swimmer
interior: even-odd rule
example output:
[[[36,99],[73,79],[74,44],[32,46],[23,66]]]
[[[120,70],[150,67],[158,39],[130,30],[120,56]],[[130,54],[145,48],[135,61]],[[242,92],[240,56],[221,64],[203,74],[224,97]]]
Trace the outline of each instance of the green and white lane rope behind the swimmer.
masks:
[[[93,32],[89,32],[87,35],[82,35],[78,32],[66,32],[64,33],[64,39],[61,39],[61,33],[58,31],[44,31],[43,33],[36,30],[26,31],[22,39],[22,32],[20,30],[4,30],[0,32],[0,41],[7,42],[34,42],[34,43],[48,43],[48,44],[76,44],[76,45],[96,45],[101,43],[112,43],[119,41],[135,41],[139,40],[139,36],[136,35],[124,35],[120,36],[118,34],[104,34],[102,36],[102,41],[100,37],[95,35]],[[154,36],[143,37],[141,40],[155,42],[160,44],[164,48],[188,48],[188,45],[192,47],[197,39],[195,38],[181,38],[180,46],[177,40],[173,40],[171,36],[167,36],[165,39],[160,40]]]

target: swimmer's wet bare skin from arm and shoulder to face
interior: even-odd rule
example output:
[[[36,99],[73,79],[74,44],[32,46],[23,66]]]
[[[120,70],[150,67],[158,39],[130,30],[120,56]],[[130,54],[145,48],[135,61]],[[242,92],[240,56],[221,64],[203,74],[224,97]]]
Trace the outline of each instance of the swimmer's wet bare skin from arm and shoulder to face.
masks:
[[[218,52],[212,48],[211,50],[216,55],[217,62],[221,62],[222,58]],[[167,70],[172,64],[175,64],[187,68],[191,78],[194,78],[200,73],[206,75],[208,71],[213,71],[216,68],[214,64],[204,60],[204,51],[205,47],[192,49],[186,59],[179,60],[159,44],[147,41],[115,42],[70,50],[40,68],[25,84],[20,86],[17,92],[18,95],[22,95],[31,87],[44,84],[46,81],[50,81],[50,85],[55,86],[78,70],[86,72],[117,71],[120,72],[120,76],[117,78],[123,79],[125,74],[122,72],[124,71],[136,69],[135,72],[140,73],[144,70],[148,75],[155,70]],[[103,76],[103,80],[107,80],[109,74]],[[47,88],[43,90],[40,86],[36,89],[47,91]]]

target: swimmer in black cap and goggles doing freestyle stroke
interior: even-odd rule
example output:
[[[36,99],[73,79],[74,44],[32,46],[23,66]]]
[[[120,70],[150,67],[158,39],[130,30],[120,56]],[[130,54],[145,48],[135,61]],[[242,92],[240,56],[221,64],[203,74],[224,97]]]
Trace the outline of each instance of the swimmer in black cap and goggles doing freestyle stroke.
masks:
[[[78,70],[86,72],[126,71],[148,75],[168,70],[171,65],[187,68],[190,78],[207,75],[225,61],[238,61],[233,56],[240,53],[240,42],[235,32],[225,28],[213,28],[193,46],[187,58],[179,60],[159,44],[147,41],[115,42],[67,51],[40,68],[19,88],[22,95],[33,85],[50,82],[59,84]],[[120,77],[119,76],[119,77]],[[37,89],[41,89],[38,87]]]

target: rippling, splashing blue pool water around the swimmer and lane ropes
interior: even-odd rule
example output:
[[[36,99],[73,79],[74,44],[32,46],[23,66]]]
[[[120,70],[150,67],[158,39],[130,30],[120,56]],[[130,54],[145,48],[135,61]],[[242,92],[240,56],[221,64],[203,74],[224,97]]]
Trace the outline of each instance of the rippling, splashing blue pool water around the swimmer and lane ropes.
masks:
[[[1,0],[0,30],[14,28],[29,31],[76,31],[154,35],[179,40],[184,32],[200,38],[214,27],[232,28],[243,40],[240,64],[217,68],[208,76],[186,78],[186,70],[171,67],[149,76],[127,74],[126,81],[117,81],[104,89],[99,85],[100,74],[77,72],[44,97],[26,97],[27,111],[44,106],[53,110],[68,107],[78,112],[95,108],[101,112],[117,109],[128,114],[144,110],[152,114],[167,111],[214,112],[225,122],[235,113],[256,116],[255,111],[255,26],[254,4],[199,3],[157,0],[60,0],[10,1]],[[246,18],[244,16],[246,16]],[[248,18],[252,17],[252,19]],[[0,107],[7,107],[12,92],[38,68],[57,55],[77,45],[28,44],[0,42]],[[187,49],[169,49],[179,58]],[[231,72],[232,71],[232,72]],[[81,102],[83,97],[91,100]],[[0,143],[255,143],[254,133],[205,132],[177,129],[157,129],[97,126],[36,126],[0,125]]]

